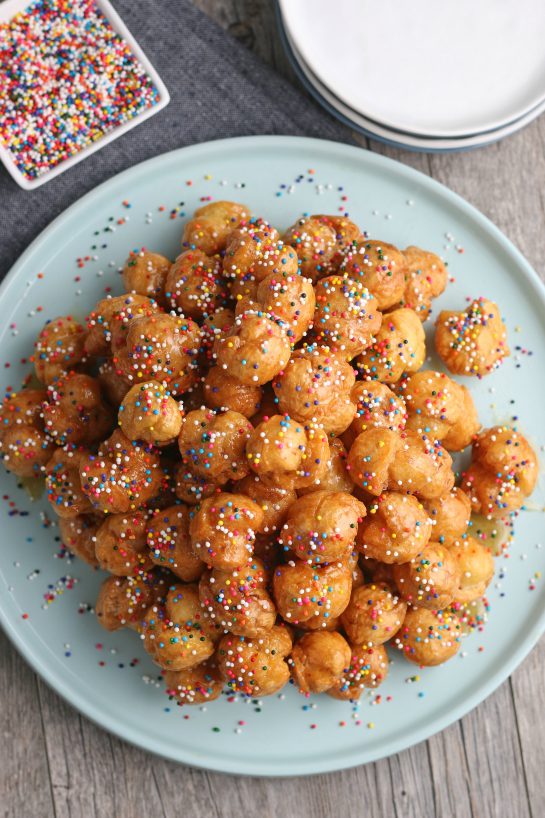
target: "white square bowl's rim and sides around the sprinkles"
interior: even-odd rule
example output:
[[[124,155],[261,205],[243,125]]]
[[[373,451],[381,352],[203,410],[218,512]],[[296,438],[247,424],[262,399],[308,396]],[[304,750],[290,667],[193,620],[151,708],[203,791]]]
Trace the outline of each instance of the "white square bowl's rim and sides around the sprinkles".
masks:
[[[30,5],[32,0],[4,0],[4,2],[0,1],[0,23],[6,23],[12,19],[16,14],[21,11],[25,11]],[[68,157],[68,159],[64,159],[60,162],[56,167],[52,168],[51,170],[46,171],[43,176],[39,176],[36,179],[27,179],[27,177],[21,173],[17,165],[15,164],[11,152],[8,148],[4,147],[2,143],[0,143],[0,161],[10,174],[10,176],[17,182],[17,184],[24,188],[25,190],[34,190],[37,187],[49,182],[50,179],[54,179],[55,176],[59,176],[59,174],[64,173],[65,170],[76,165],[78,162],[81,162],[82,159],[85,159],[87,156],[90,156],[92,153],[103,148],[109,142],[113,142],[114,139],[117,139],[118,136],[122,136],[127,131],[130,131],[131,128],[136,127],[145,119],[149,119],[154,114],[159,113],[159,111],[164,108],[170,102],[170,94],[166,88],[166,85],[162,81],[161,77],[150,63],[132,34],[130,33],[129,29],[119,16],[119,14],[115,11],[109,0],[96,0],[97,7],[102,11],[104,17],[108,20],[114,31],[122,37],[128,46],[131,49],[131,52],[136,57],[136,59],[140,62],[143,66],[145,71],[147,72],[148,76],[150,77],[151,81],[153,82],[155,88],[159,92],[159,102],[155,105],[152,105],[151,108],[147,108],[145,111],[141,111],[136,116],[129,119],[127,122],[123,122],[121,125],[118,125],[112,131],[104,136],[101,136],[96,142],[93,142],[90,145],[87,145],[85,148],[82,148],[78,153],[74,154],[74,156]]]

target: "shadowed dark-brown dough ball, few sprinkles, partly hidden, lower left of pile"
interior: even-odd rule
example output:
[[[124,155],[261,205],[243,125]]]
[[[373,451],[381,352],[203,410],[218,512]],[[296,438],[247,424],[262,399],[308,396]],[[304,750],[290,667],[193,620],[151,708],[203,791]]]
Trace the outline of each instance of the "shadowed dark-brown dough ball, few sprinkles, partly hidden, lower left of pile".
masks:
[[[183,582],[198,580],[205,568],[204,562],[195,556],[191,547],[190,516],[187,506],[167,506],[157,511],[146,527],[146,540],[153,562],[168,568]]]

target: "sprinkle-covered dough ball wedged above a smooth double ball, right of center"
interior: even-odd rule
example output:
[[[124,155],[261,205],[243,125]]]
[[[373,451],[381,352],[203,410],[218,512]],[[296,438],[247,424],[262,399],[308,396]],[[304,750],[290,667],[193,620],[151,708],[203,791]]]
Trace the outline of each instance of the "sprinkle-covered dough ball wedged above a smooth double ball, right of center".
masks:
[[[357,381],[351,392],[356,404],[356,417],[351,430],[355,435],[367,429],[393,429],[402,431],[407,420],[407,407],[403,397],[396,395],[380,381]]]

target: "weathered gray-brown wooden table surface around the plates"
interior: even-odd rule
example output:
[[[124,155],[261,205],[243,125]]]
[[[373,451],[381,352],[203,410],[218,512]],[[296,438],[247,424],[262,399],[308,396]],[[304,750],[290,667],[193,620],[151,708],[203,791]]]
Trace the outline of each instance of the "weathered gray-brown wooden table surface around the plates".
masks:
[[[195,0],[297,84],[270,0]],[[364,139],[460,193],[543,275],[545,117],[491,147],[423,155]],[[514,612],[515,613],[515,612]],[[429,741],[342,773],[228,777],[148,755],[65,704],[0,634],[0,815],[5,818],[541,818],[545,640],[487,701]]]

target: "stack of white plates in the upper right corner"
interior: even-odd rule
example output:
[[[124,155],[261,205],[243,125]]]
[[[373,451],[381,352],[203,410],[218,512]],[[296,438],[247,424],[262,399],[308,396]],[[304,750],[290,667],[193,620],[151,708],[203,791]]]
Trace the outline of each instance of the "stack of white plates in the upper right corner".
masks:
[[[495,142],[545,110],[545,0],[278,0],[300,79],[399,147]]]

